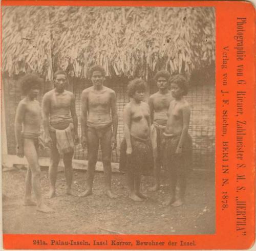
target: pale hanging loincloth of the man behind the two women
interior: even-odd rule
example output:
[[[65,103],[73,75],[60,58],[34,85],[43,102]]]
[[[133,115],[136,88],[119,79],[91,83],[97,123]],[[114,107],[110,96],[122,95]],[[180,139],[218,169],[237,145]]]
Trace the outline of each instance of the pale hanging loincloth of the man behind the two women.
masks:
[[[156,162],[156,165],[162,165],[162,141],[163,141],[163,132],[164,132],[165,126],[159,125],[156,122],[154,122],[151,126],[151,141],[152,141],[152,147],[153,147],[153,156]]]

